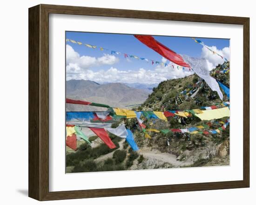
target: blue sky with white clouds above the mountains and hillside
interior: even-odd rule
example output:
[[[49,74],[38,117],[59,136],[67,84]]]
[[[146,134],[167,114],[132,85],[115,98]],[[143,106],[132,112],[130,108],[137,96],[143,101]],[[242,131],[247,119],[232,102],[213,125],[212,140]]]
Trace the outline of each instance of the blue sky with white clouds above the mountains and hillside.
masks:
[[[189,55],[191,57],[209,56],[209,62],[213,65],[215,65],[216,63],[222,60],[222,59],[218,59],[220,57],[216,58],[217,56],[211,59],[212,57],[209,53],[203,53],[202,45],[196,44],[195,41],[190,37],[171,37],[171,36],[153,36],[153,37],[159,42],[161,42],[163,45],[166,45],[168,48],[175,51],[176,53]],[[131,34],[66,32],[66,38],[72,39],[75,41],[80,41],[83,44],[90,44],[90,45],[97,46],[96,49],[93,49],[93,48],[88,48],[85,45],[78,45],[72,42],[67,42],[67,45],[69,45],[67,50],[68,52],[67,55],[69,55],[69,52],[71,53],[75,52],[75,55],[76,55],[75,59],[73,57],[67,58],[67,79],[91,80],[91,77],[88,77],[85,73],[88,70],[94,72],[94,77],[95,77],[96,74],[104,75],[103,71],[106,72],[111,68],[112,70],[113,69],[118,70],[119,73],[121,71],[130,70],[130,71],[133,71],[133,75],[135,75],[134,73],[135,71],[138,71],[140,69],[144,69],[149,72],[155,71],[154,75],[152,74],[153,76],[157,74],[155,70],[157,68],[157,65],[155,64],[151,65],[150,62],[147,63],[146,61],[137,60],[135,58],[126,59],[124,58],[123,54],[113,56],[111,55],[111,51],[119,51],[121,53],[127,53],[127,54],[135,55],[141,58],[147,58],[147,59],[152,59],[154,61],[162,62],[161,55],[159,55],[157,52],[153,51],[152,49],[148,48],[146,45],[142,44],[139,40],[137,40]],[[197,39],[200,39],[202,42],[204,42],[205,45],[208,45],[209,47],[213,48],[213,50],[216,50],[221,54],[222,54],[222,49],[226,48],[227,50],[227,48],[229,48],[229,39],[216,39],[216,38],[197,38]],[[70,46],[74,51],[71,49]],[[109,49],[109,51],[106,51],[106,50],[101,51],[100,47]],[[70,54],[70,55],[73,55],[73,54]],[[227,55],[229,55],[229,53]],[[79,63],[81,62],[81,59],[78,60],[77,58],[81,58],[83,56],[91,57],[91,58],[83,58],[84,60],[87,59],[88,62],[90,60],[94,61],[94,59],[96,59],[96,61],[94,61],[94,63],[91,63],[91,64],[86,64],[84,63],[84,61],[83,63]],[[105,56],[106,59],[105,58],[101,59],[103,56]],[[111,61],[110,58],[112,59],[112,62],[110,62]],[[105,62],[105,60],[107,61]],[[168,60],[167,60],[167,63],[169,63]],[[84,75],[81,75],[81,72],[84,72]],[[70,75],[68,75],[68,73],[70,73]],[[115,74],[116,72],[112,73],[112,75],[115,75]],[[186,75],[188,75],[188,73]],[[186,75],[173,75],[173,78],[184,77]],[[165,77],[162,76],[162,78],[155,80],[155,82],[159,82],[164,78]],[[169,79],[169,78],[172,78],[172,77],[171,76],[166,77],[166,79]],[[112,81],[111,77],[108,77],[105,80],[98,79],[98,82],[102,83],[103,81],[107,81],[107,80]],[[119,81],[121,80],[119,79]],[[140,77],[138,77],[137,81],[140,81]],[[114,82],[118,82],[118,79],[115,79]]]

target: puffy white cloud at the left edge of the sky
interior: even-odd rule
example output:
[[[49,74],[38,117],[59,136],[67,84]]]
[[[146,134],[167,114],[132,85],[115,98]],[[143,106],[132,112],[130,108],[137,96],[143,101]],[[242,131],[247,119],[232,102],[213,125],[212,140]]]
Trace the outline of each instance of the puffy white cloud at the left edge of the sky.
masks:
[[[119,59],[113,55],[104,54],[104,56],[95,58],[90,56],[80,56],[74,51],[72,46],[66,45],[66,63],[67,73],[81,73],[92,66],[113,65]]]

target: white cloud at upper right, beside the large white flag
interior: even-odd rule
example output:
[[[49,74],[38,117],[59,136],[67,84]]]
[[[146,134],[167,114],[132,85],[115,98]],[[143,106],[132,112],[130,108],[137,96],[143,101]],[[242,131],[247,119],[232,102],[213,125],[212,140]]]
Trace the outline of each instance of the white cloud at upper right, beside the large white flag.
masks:
[[[211,50],[215,51],[216,53],[220,54],[222,57],[227,58],[229,60],[229,47],[224,47],[222,50],[218,50],[216,46],[208,46]],[[217,54],[213,54],[212,51],[209,51],[206,47],[202,47],[202,53],[201,53],[202,58],[205,58],[208,65],[209,69],[212,70],[215,68],[218,64],[224,63],[224,59],[222,59],[220,56]]]

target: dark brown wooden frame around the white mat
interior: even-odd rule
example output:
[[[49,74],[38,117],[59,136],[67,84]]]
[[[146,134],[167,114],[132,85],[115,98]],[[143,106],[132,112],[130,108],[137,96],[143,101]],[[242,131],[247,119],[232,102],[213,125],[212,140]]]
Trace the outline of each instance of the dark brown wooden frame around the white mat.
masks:
[[[243,25],[243,180],[49,192],[49,13]],[[28,23],[29,197],[56,200],[249,187],[249,18],[38,5],[29,8]]]

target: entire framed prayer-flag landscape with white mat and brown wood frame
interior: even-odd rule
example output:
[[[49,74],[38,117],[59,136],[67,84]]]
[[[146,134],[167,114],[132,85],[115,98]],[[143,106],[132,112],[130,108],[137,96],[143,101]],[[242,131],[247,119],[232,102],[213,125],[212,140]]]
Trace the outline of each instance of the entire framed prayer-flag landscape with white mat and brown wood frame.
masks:
[[[249,187],[249,18],[29,8],[29,197]]]

